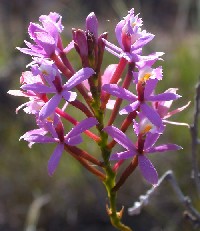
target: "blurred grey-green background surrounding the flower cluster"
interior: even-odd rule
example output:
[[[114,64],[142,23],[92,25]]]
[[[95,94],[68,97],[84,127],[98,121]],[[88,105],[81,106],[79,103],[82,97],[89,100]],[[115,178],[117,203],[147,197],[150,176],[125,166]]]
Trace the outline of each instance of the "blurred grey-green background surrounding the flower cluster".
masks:
[[[24,99],[7,94],[19,89],[19,77],[31,60],[16,50],[24,47],[29,22],[37,22],[41,14],[50,11],[63,16],[62,34],[67,44],[71,28],[84,28],[85,17],[94,11],[99,19],[100,32],[108,31],[116,42],[114,28],[132,7],[143,18],[147,31],[156,35],[144,53],[164,51],[164,79],[158,92],[179,88],[182,98],[174,108],[192,101],[189,108],[173,117],[174,121],[191,124],[193,120],[195,84],[200,75],[200,1],[199,0],[0,0],[0,231],[35,231],[27,222],[38,218],[37,231],[114,231],[105,211],[106,193],[101,182],[80,167],[69,155],[62,161],[53,177],[47,174],[47,161],[52,145],[35,145],[29,149],[19,137],[35,127],[34,119],[15,108]],[[106,66],[117,59],[105,54]],[[77,56],[72,54],[73,65]],[[77,112],[72,112],[74,115]],[[186,127],[168,125],[163,142],[173,142],[184,149],[175,153],[154,155],[151,160],[161,176],[172,169],[183,192],[192,198],[200,211],[200,201],[191,177],[191,138]],[[85,148],[98,156],[98,149],[90,141]],[[140,215],[129,216],[127,208],[150,185],[138,171],[119,190],[118,204],[125,206],[124,221],[136,231],[194,230],[184,218],[182,205],[171,187],[164,183]],[[31,204],[34,206],[31,206]],[[43,205],[43,206],[42,206]],[[31,217],[28,211],[34,208]],[[41,209],[40,209],[41,207]],[[39,214],[40,211],[40,214]],[[28,221],[27,221],[28,220]]]

